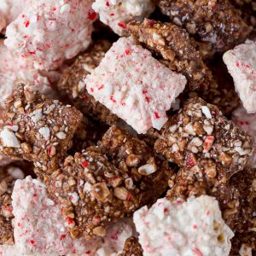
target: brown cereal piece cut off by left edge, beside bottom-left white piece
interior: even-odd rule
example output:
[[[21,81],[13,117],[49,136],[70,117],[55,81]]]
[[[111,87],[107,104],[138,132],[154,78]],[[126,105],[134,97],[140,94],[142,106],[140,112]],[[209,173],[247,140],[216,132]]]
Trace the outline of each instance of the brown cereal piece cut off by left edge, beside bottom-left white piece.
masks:
[[[0,167],[0,244],[14,244],[12,191],[16,179],[24,178],[17,166]]]

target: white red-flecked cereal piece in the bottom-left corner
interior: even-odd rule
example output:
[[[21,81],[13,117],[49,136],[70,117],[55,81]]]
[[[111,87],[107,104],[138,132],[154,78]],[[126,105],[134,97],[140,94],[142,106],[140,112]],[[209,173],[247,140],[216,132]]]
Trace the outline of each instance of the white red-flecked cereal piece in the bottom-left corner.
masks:
[[[47,195],[43,183],[32,177],[18,180],[12,195],[15,246],[20,254],[93,255],[101,241],[73,240],[64,226],[61,207]]]

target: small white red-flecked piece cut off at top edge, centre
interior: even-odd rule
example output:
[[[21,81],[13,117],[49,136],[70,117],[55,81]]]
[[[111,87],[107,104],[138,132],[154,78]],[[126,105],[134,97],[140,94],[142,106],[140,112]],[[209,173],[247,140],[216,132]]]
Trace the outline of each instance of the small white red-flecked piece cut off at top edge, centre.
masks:
[[[92,8],[99,13],[103,23],[123,36],[126,24],[148,17],[154,11],[154,3],[152,0],[96,0]]]

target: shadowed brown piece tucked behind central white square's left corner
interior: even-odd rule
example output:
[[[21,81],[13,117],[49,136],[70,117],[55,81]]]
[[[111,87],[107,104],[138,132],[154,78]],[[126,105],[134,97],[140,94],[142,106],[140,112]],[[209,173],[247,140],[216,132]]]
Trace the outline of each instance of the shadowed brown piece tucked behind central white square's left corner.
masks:
[[[61,95],[67,96],[73,106],[82,113],[113,125],[118,117],[100,102],[96,102],[84,85],[84,78],[100,64],[109,48],[110,43],[106,40],[93,44],[88,52],[79,55],[73,65],[64,70],[57,87]]]

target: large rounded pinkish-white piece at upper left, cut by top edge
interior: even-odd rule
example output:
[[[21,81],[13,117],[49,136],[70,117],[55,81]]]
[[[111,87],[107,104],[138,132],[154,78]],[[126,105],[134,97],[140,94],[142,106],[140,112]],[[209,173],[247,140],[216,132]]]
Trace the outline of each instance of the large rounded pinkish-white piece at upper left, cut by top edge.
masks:
[[[91,0],[32,1],[6,29],[9,49],[52,70],[90,44],[96,13]]]

